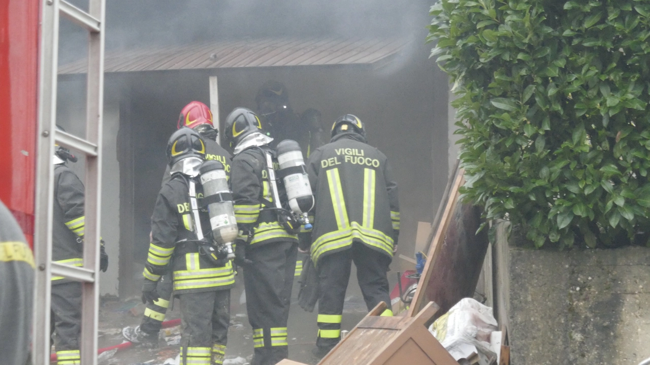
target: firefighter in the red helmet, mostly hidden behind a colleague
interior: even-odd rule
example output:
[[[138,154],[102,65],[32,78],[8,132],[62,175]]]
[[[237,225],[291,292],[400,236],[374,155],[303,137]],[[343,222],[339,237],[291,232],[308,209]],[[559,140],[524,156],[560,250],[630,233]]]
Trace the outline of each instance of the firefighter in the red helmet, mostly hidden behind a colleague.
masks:
[[[226,179],[229,177],[230,153],[216,143],[218,130],[214,128],[212,112],[207,105],[200,101],[192,101],[185,105],[181,110],[176,127],[179,129],[188,127],[201,134],[201,138],[205,142],[205,160],[218,160],[221,162],[226,170]],[[170,166],[167,165],[162,176],[162,186],[170,181],[171,177]],[[153,303],[147,304],[140,325],[122,329],[124,338],[134,344],[142,344],[144,347],[158,346],[158,333],[161,330],[162,321],[164,321],[172,297],[172,278],[169,275],[161,277],[157,286],[157,293],[160,297]]]

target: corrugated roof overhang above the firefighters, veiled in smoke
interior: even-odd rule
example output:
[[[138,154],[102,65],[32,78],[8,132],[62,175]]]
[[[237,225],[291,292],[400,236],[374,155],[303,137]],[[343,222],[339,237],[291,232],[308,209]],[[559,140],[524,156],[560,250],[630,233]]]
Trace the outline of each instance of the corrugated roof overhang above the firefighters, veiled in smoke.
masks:
[[[257,38],[107,52],[105,72],[376,64],[408,44],[405,38]],[[87,61],[60,66],[85,73]]]

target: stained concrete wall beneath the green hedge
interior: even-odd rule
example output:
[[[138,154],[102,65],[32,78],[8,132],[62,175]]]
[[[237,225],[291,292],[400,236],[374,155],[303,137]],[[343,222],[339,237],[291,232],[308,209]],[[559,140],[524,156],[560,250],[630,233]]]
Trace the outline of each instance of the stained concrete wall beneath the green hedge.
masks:
[[[506,254],[501,264],[509,262],[509,290],[500,296],[509,298],[497,316],[508,317],[511,364],[632,365],[650,357],[650,249],[538,251],[509,247],[504,233],[496,245]]]

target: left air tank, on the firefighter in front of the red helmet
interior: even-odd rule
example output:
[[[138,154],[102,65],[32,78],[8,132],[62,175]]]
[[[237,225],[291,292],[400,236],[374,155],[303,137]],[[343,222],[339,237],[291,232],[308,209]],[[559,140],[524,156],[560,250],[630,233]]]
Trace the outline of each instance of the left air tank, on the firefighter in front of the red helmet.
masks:
[[[235,258],[233,241],[237,238],[237,220],[233,194],[228,188],[224,165],[216,160],[203,162],[200,168],[203,185],[203,206],[207,205],[214,241],[225,247],[226,258]]]

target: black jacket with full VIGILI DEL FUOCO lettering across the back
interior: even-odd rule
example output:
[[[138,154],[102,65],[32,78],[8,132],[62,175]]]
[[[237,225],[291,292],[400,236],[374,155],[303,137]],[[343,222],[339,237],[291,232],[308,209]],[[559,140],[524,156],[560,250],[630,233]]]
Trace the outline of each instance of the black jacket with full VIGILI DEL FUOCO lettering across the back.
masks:
[[[307,163],[316,199],[311,259],[363,242],[389,257],[397,238],[400,211],[397,183],[388,159],[355,133],[334,136]]]

